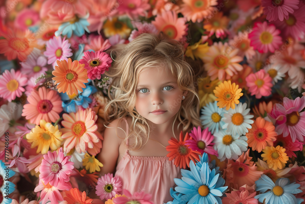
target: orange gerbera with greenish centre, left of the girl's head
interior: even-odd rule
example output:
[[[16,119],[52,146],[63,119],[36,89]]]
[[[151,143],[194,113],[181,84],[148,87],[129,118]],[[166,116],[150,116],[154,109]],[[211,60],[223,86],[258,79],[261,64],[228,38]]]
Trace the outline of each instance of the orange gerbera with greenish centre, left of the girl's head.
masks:
[[[72,62],[71,58],[59,61],[52,74],[55,76],[54,84],[57,85],[58,92],[66,93],[68,95],[78,94],[78,91],[83,91],[86,88],[84,83],[88,82],[87,69],[84,69],[85,64],[79,64],[77,60]]]

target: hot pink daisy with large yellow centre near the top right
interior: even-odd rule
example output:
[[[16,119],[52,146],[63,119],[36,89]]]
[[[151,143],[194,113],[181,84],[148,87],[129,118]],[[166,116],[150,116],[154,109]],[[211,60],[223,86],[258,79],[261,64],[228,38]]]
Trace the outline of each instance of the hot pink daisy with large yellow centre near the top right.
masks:
[[[254,24],[253,31],[249,33],[250,45],[261,53],[268,51],[274,53],[282,44],[280,31],[274,25],[267,25],[267,22],[257,22]]]

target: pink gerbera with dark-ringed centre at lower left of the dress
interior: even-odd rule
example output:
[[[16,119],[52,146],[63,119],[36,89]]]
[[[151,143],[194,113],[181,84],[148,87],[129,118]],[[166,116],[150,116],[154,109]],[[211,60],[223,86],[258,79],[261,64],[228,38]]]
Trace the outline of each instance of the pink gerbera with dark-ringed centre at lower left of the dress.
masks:
[[[95,187],[96,195],[99,195],[101,200],[112,199],[116,194],[120,194],[122,183],[119,176],[114,176],[113,174],[105,174],[99,178],[97,185]]]

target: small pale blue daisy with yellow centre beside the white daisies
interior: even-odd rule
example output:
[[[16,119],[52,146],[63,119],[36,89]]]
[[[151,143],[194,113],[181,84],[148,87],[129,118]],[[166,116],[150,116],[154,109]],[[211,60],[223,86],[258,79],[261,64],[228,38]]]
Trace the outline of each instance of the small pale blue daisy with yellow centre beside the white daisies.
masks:
[[[218,132],[225,124],[221,118],[224,117],[224,113],[227,113],[223,108],[217,106],[217,101],[210,102],[201,109],[201,124],[203,128],[209,128],[209,131],[214,134]]]

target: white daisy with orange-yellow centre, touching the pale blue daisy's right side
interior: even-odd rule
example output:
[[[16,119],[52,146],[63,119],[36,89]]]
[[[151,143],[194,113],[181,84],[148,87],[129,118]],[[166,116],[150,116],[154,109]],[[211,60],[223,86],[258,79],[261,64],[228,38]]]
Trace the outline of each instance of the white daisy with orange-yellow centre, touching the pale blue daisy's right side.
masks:
[[[249,114],[250,109],[247,109],[246,103],[239,103],[235,106],[235,109],[230,108],[228,113],[224,113],[224,117],[221,119],[225,122],[222,126],[223,129],[227,128],[226,132],[232,135],[245,135],[251,129],[250,124],[254,123],[251,118],[253,115]]]

